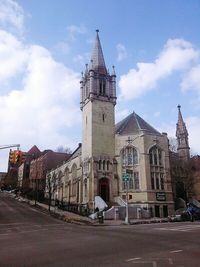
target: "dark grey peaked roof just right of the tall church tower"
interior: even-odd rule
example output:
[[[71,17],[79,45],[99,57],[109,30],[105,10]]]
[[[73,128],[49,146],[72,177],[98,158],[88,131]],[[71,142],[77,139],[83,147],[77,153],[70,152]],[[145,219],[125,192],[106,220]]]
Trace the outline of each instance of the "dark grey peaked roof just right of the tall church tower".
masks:
[[[147,134],[161,135],[156,129],[154,129],[135,112],[131,113],[129,116],[115,125],[116,134],[139,134],[141,131],[145,131]]]

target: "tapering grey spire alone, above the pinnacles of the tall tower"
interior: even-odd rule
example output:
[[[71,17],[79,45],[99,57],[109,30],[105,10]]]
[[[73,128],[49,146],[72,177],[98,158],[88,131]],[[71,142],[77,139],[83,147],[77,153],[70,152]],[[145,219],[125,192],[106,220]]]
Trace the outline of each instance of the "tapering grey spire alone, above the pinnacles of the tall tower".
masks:
[[[101,48],[101,43],[99,40],[99,30],[96,30],[96,40],[94,48],[92,51],[91,61],[93,63],[94,71],[99,72],[100,74],[107,74],[106,65],[104,61],[104,56]]]

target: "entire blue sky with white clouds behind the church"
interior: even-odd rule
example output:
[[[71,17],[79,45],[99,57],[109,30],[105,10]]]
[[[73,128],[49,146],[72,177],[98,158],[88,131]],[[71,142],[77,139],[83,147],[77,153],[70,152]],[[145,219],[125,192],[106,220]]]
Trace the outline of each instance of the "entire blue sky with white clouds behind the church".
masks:
[[[0,146],[82,142],[80,77],[99,29],[117,74],[116,122],[134,111],[175,137],[180,104],[200,154],[199,18],[199,0],[0,0]]]

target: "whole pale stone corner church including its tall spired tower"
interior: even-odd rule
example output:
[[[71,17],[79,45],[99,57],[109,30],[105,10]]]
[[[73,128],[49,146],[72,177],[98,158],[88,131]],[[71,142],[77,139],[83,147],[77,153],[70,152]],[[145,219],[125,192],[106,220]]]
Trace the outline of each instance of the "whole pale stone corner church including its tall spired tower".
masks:
[[[60,201],[94,209],[95,196],[109,205],[128,196],[130,206],[166,217],[174,210],[167,134],[135,112],[115,124],[116,100],[115,68],[111,74],[106,68],[97,31],[90,64],[80,81],[82,144],[66,163],[47,174],[46,184]]]

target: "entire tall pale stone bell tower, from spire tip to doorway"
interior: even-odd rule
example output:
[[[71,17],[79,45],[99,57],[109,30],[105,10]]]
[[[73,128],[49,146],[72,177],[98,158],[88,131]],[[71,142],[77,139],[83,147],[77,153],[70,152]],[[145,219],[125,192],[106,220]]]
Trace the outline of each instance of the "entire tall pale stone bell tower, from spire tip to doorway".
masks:
[[[101,196],[100,179],[105,179],[104,185],[107,183],[109,187],[102,189],[105,197],[101,197],[110,200],[112,177],[108,173],[112,172],[115,156],[116,75],[114,66],[112,74],[106,68],[98,30],[90,64],[86,64],[82,73],[80,94],[82,163],[83,166],[89,166],[88,202],[94,201],[97,195]]]

